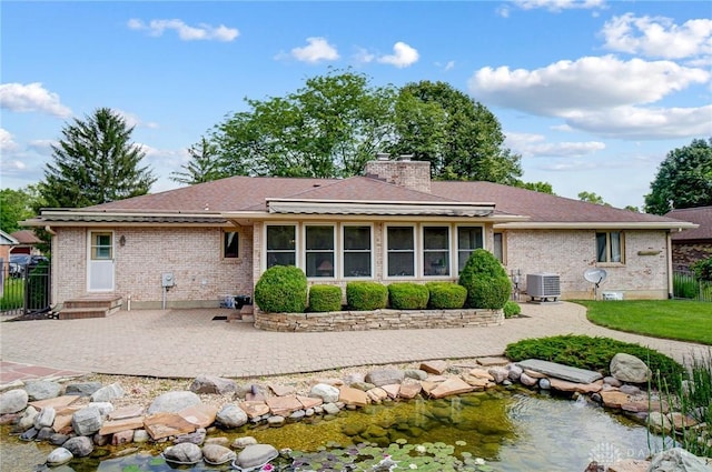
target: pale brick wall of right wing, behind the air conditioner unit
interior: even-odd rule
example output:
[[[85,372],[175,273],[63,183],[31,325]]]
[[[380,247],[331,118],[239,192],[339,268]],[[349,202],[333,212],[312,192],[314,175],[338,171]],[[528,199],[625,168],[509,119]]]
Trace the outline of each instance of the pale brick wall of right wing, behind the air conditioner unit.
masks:
[[[625,299],[668,298],[666,233],[626,231],[624,264],[596,263],[593,230],[516,230],[506,232],[507,270],[526,274],[560,274],[563,299],[592,299],[593,284],[583,278],[592,267],[605,269],[601,291],[619,291]]]

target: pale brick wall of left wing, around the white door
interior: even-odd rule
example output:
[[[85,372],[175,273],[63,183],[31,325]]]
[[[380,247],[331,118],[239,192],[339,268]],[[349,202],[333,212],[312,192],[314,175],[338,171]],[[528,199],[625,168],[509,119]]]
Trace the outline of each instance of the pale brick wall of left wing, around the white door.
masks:
[[[239,233],[238,259],[224,259],[220,228],[116,228],[117,294],[134,308],[160,308],[161,274],[172,272],[176,285],[166,292],[168,308],[217,307],[226,294],[253,293],[253,230]],[[55,238],[55,303],[87,293],[87,229],[62,229]],[[123,237],[126,243],[120,245]]]

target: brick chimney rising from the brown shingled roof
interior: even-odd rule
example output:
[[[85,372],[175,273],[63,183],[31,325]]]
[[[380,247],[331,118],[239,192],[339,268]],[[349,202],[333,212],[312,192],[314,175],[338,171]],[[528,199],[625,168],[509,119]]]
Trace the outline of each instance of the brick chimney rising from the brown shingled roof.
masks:
[[[378,153],[375,161],[366,162],[366,177],[431,193],[431,163],[412,161],[411,158],[412,154],[405,154],[394,161],[388,159],[388,154]]]

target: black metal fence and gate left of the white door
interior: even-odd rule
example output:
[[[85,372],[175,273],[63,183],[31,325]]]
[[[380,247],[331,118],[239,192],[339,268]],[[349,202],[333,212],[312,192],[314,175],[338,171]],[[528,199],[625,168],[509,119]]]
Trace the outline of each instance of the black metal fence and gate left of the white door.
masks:
[[[0,314],[21,317],[50,309],[50,264],[21,265],[3,261],[0,271]]]

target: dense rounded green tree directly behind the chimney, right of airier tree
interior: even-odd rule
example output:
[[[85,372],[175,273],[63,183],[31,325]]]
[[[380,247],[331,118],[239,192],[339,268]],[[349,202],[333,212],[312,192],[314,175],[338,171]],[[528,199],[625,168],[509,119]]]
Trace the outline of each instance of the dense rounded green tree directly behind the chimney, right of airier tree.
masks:
[[[500,121],[482,103],[445,82],[400,89],[390,153],[429,161],[435,179],[515,184],[521,157],[504,147]]]

